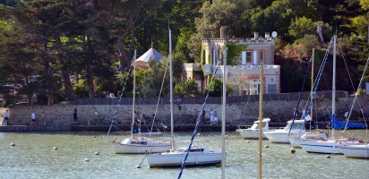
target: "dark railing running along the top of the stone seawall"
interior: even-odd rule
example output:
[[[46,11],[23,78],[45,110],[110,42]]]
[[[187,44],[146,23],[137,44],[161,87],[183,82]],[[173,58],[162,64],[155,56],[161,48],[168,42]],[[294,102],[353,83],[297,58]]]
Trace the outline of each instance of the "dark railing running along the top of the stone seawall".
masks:
[[[264,101],[294,101],[298,100],[300,96],[299,92],[296,93],[279,93],[279,94],[264,94]],[[310,92],[304,92],[302,99],[307,100],[310,96]],[[336,91],[338,98],[348,97],[348,93],[344,90]],[[331,90],[316,92],[316,98],[331,98]],[[174,97],[174,104],[202,104],[205,97]],[[75,98],[73,105],[116,105],[119,98]],[[221,97],[209,97],[207,104],[221,104]],[[245,95],[245,96],[233,96],[227,97],[227,104],[243,103],[243,102],[257,102],[259,101],[259,95]],[[156,105],[158,98],[136,98],[136,104],[141,105]],[[122,98],[121,105],[132,105],[133,98]],[[159,99],[160,105],[170,104],[170,98],[162,97]]]

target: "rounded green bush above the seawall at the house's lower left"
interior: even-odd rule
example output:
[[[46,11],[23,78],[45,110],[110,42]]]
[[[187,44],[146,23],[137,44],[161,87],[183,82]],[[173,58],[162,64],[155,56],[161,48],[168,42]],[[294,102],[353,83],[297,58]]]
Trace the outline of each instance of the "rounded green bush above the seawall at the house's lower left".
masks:
[[[197,83],[193,80],[176,83],[175,92],[181,97],[199,97],[201,95]]]

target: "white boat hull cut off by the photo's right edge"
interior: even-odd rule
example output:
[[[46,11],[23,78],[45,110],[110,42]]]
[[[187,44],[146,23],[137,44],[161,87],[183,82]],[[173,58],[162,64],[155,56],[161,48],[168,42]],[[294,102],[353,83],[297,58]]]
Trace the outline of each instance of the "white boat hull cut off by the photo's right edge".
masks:
[[[347,158],[369,158],[369,144],[342,146],[341,152]]]

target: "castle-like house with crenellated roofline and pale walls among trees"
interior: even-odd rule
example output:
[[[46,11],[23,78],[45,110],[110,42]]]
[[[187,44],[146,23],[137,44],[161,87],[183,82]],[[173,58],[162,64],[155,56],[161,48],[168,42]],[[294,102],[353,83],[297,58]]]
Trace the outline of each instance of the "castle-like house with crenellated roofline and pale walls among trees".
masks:
[[[223,61],[222,50],[227,41],[233,41],[236,45],[246,45],[245,51],[237,59],[238,65],[227,65],[227,84],[233,86],[233,95],[254,95],[259,94],[260,74],[263,65],[264,94],[280,93],[280,66],[274,64],[274,38],[270,38],[269,32],[264,38],[259,37],[255,32],[253,38],[225,38],[224,29],[220,30],[220,38],[202,39],[202,54],[204,55],[205,66],[204,75],[214,72],[219,61]],[[220,64],[222,64],[220,62]],[[199,85],[199,90],[203,91],[207,84],[207,78],[199,78],[193,75],[195,71],[202,70],[200,65],[185,64],[185,78],[195,80]],[[222,78],[224,72],[223,65],[215,76]]]

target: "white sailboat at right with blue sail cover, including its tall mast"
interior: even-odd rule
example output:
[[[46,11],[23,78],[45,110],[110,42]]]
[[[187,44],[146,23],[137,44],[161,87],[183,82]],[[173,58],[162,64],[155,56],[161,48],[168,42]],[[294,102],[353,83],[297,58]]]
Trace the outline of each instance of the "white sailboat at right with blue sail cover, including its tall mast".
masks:
[[[337,138],[335,134],[336,129],[336,47],[337,47],[337,36],[333,37],[333,79],[332,79],[332,132],[330,140],[314,140],[314,139],[299,139],[297,140],[298,144],[304,149],[306,152],[313,153],[326,153],[326,154],[342,154],[340,151],[340,146],[343,146],[347,143],[359,143],[358,140],[353,138]]]

